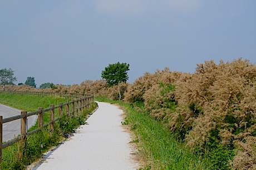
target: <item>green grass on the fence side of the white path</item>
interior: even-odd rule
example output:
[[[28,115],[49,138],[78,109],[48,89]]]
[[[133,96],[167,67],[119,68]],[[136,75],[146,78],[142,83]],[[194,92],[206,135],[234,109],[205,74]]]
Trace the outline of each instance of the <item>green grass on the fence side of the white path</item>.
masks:
[[[0,93],[0,103],[28,112],[36,111],[38,107],[49,108],[50,104],[58,105],[60,102],[65,103],[66,101],[66,98],[61,97]],[[17,142],[4,148],[3,162],[0,164],[0,169],[26,169],[27,165],[41,158],[42,154],[48,149],[60,144],[65,137],[69,137],[74,132],[75,128],[84,124],[88,114],[96,107],[97,104],[93,103],[86,111],[68,118],[65,114],[62,114],[61,119],[55,123],[53,132],[50,132],[50,127],[47,127],[41,129],[38,133],[28,136],[26,146],[22,146],[21,142]],[[55,112],[58,113],[57,110]],[[45,112],[43,119],[45,123],[49,122],[50,112]],[[35,128],[37,128],[37,124],[32,127],[32,129]]]

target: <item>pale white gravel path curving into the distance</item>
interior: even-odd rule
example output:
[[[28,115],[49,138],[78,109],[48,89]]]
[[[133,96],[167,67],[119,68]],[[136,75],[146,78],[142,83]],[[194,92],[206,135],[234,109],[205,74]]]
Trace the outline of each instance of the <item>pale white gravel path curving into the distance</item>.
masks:
[[[130,134],[121,127],[123,111],[109,103],[99,108],[69,141],[49,152],[33,170],[40,169],[136,169]]]

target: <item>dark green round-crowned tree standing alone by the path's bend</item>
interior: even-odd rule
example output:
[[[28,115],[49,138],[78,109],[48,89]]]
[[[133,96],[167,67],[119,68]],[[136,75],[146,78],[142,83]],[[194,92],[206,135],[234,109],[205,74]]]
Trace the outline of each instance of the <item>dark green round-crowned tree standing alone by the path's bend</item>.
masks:
[[[119,100],[121,99],[119,83],[126,82],[129,79],[127,74],[127,71],[130,70],[129,66],[130,65],[127,63],[117,62],[115,64],[109,64],[109,66],[105,67],[105,70],[101,72],[101,77],[106,79],[106,82],[110,87],[117,85]]]

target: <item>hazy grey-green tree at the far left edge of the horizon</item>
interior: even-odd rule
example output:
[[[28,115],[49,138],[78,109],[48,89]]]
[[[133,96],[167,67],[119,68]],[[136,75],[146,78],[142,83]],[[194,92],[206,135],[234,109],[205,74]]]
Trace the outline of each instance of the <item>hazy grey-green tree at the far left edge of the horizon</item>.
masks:
[[[6,84],[14,84],[13,82],[17,81],[17,78],[14,77],[13,70],[11,68],[9,69],[0,69],[0,84],[3,85],[3,90],[4,86]]]

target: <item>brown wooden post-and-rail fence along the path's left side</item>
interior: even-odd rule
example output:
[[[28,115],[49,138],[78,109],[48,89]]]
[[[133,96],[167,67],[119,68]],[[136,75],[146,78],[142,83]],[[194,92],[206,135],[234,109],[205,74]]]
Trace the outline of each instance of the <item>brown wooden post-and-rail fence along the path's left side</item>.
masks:
[[[35,94],[37,92],[29,92],[29,93]],[[38,95],[41,95],[41,94],[38,94]],[[8,118],[3,118],[3,116],[0,116],[0,163],[2,162],[3,148],[11,146],[13,143],[16,143],[18,141],[26,142],[27,136],[38,132],[43,127],[47,127],[50,125],[50,131],[53,131],[54,124],[58,119],[60,119],[62,113],[66,113],[68,116],[73,113],[82,112],[86,107],[90,106],[90,104],[93,103],[93,95],[84,94],[81,96],[83,97],[79,99],[72,99],[72,101],[66,101],[66,103],[59,103],[58,106],[55,106],[55,104],[50,104],[50,108],[47,108],[47,109],[43,109],[42,107],[39,107],[38,110],[34,112],[28,113],[27,111],[21,111],[21,115],[8,117]],[[63,111],[64,107],[65,107],[65,111]],[[57,108],[58,108],[58,117],[55,118],[55,109]],[[45,112],[50,112],[50,122],[46,124],[43,123],[43,113]],[[33,116],[36,114],[38,116],[38,128],[35,129],[34,131],[27,132],[27,117]],[[3,143],[3,124],[7,122],[15,121],[17,119],[21,119],[20,136],[12,139],[11,141]]]

